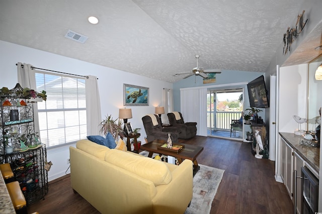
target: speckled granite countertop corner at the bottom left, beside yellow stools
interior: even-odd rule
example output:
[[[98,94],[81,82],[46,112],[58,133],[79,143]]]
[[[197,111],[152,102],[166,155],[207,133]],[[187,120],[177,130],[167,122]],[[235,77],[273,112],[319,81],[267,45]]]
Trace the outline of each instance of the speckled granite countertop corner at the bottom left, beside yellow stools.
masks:
[[[1,173],[0,173],[0,213],[16,213],[14,205],[11,202],[11,198],[10,198],[6,183]]]

